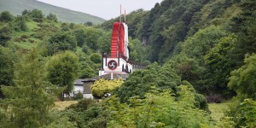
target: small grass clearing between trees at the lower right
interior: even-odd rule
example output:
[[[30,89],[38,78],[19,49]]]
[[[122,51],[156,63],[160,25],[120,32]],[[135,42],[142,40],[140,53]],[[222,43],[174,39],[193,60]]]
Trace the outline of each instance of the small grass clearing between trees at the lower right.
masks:
[[[221,117],[224,116],[224,111],[228,109],[229,102],[224,103],[209,103],[209,109],[212,112],[212,119],[218,121]]]

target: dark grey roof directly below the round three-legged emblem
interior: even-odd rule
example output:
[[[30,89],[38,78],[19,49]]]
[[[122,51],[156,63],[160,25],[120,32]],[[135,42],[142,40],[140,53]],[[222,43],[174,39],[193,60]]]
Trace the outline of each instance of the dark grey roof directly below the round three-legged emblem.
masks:
[[[123,79],[126,80],[128,78],[129,74],[123,74],[123,73],[113,73],[113,79]],[[111,79],[111,73],[108,74],[104,74],[102,76],[97,76],[94,78],[90,78],[90,79],[84,79],[83,82],[93,82],[96,81],[98,79]]]

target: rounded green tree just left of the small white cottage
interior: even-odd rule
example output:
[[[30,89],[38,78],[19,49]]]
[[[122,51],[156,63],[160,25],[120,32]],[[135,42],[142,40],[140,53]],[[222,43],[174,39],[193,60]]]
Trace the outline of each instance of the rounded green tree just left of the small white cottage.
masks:
[[[54,55],[47,66],[48,79],[51,84],[65,87],[64,93],[73,90],[73,81],[79,75],[79,58],[71,51]]]

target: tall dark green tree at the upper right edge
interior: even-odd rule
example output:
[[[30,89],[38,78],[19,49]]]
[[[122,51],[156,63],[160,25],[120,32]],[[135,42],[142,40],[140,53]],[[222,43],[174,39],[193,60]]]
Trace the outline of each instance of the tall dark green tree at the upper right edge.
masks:
[[[237,43],[235,44],[236,65],[241,67],[244,65],[243,60],[246,54],[256,52],[256,9],[253,8],[256,2],[253,0],[241,1],[239,7],[241,13],[230,20],[230,26],[227,30],[237,35]]]

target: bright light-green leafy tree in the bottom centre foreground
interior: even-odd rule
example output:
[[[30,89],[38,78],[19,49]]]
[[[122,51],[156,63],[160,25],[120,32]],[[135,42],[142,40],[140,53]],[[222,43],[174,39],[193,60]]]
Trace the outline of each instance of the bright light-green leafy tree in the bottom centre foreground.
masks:
[[[207,112],[195,108],[193,86],[182,84],[177,89],[179,96],[175,98],[170,95],[172,90],[152,87],[143,99],[132,96],[130,104],[121,103],[118,97],[111,96],[104,101],[108,126],[210,127]]]

